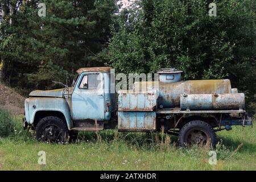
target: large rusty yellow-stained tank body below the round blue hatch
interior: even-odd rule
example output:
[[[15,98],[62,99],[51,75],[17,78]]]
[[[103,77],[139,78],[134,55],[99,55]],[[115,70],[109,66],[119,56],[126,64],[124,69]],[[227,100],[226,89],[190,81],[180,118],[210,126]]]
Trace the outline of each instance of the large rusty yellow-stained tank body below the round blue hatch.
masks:
[[[173,83],[135,82],[134,88],[158,90],[158,106],[163,108],[180,107],[180,94],[223,94],[231,93],[230,80],[189,80]],[[146,88],[146,89],[145,89]],[[138,89],[140,90],[140,89]]]

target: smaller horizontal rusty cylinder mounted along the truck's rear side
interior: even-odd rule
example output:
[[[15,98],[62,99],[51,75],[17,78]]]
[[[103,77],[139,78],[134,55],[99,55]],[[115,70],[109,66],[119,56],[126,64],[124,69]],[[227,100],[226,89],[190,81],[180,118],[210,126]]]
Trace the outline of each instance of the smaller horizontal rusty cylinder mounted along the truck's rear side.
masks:
[[[181,110],[238,110],[245,107],[245,94],[181,94]]]

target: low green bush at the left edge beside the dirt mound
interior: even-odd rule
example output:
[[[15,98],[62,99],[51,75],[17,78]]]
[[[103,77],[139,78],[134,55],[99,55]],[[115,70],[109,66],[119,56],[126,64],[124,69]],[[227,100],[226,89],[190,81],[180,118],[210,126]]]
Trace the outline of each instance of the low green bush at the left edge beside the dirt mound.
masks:
[[[14,126],[11,115],[5,110],[0,110],[0,137],[7,137],[14,133]]]

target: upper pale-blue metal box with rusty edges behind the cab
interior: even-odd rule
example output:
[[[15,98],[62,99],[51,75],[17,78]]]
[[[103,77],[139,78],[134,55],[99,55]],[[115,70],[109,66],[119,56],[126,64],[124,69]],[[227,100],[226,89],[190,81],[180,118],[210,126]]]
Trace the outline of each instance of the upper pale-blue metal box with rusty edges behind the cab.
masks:
[[[120,90],[118,92],[119,111],[153,111],[156,106],[158,93],[156,90],[134,92]]]

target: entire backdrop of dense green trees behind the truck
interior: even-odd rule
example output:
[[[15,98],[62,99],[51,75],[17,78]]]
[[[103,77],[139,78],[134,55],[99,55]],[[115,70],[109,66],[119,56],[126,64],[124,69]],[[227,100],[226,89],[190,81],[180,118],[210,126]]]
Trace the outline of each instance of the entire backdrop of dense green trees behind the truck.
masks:
[[[46,17],[38,16],[39,2]],[[217,16],[208,15],[212,2]],[[255,6],[255,0],[140,0],[116,14],[114,0],[2,0],[2,78],[19,90],[49,89],[66,75],[71,82],[80,67],[111,65],[123,73],[175,67],[185,79],[229,78],[255,112]]]

